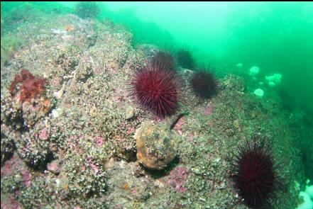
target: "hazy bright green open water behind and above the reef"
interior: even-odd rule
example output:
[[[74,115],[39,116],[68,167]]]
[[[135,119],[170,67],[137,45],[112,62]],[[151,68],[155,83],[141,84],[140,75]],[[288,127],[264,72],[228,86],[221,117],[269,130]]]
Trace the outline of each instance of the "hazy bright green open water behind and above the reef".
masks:
[[[77,2],[1,2],[1,54],[11,59],[23,40],[11,35],[23,20],[40,13],[75,13]],[[97,21],[121,23],[133,33],[133,47],[153,44],[171,52],[182,47],[197,66],[214,67],[221,78],[243,77],[247,91],[275,92],[282,111],[301,115],[313,147],[313,3],[312,2],[99,2]],[[6,47],[10,46],[10,47]],[[2,55],[1,55],[2,56]],[[1,61],[2,62],[2,61]],[[260,72],[249,75],[251,67]],[[2,70],[2,69],[1,69]],[[266,76],[281,74],[269,86]],[[2,78],[1,78],[2,79]],[[265,98],[265,97],[264,97]],[[263,99],[263,98],[260,98]],[[279,114],[279,113],[278,113]],[[279,129],[279,127],[278,127]],[[297,130],[297,129],[296,129]],[[313,181],[313,148],[302,147],[305,175]]]

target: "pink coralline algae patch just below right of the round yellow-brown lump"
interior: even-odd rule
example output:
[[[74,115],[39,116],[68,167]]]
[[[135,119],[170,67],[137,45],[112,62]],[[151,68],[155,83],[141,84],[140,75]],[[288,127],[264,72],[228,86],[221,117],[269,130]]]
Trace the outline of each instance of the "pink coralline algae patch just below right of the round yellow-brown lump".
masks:
[[[179,167],[170,171],[170,178],[168,179],[168,184],[174,187],[175,191],[180,193],[185,193],[187,188],[184,184],[188,178],[188,169],[186,167]]]

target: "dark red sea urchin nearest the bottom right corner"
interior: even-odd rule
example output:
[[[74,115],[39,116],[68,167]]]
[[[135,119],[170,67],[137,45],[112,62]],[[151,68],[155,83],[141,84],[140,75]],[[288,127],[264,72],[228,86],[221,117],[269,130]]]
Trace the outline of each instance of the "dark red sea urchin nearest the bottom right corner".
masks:
[[[236,155],[231,178],[239,196],[251,208],[267,204],[278,188],[278,176],[269,149],[265,144],[246,142]]]

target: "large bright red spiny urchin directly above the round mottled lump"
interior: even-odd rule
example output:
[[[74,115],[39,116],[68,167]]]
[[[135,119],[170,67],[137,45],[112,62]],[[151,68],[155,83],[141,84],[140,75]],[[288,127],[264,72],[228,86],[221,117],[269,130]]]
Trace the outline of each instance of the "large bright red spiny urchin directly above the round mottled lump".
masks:
[[[160,118],[174,114],[178,108],[178,81],[168,63],[147,62],[133,74],[131,88],[139,103]]]

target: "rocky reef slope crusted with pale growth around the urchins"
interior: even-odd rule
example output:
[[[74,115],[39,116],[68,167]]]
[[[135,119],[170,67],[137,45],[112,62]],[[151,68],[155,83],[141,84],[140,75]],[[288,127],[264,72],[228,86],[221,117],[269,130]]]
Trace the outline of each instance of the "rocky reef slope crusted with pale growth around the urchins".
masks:
[[[227,74],[217,96],[199,101],[187,87],[193,72],[180,69],[190,114],[172,130],[174,161],[153,171],[138,163],[134,134],[145,121],[170,127],[180,112],[156,118],[133,100],[128,83],[158,47],[133,47],[123,26],[72,14],[37,16],[6,38],[1,208],[246,208],[230,175],[238,145],[252,139],[272,145],[280,165],[285,188],[271,205],[296,208],[306,181],[301,115],[283,111],[275,91],[258,98]],[[21,69],[46,79],[44,93],[23,105],[9,93]]]

